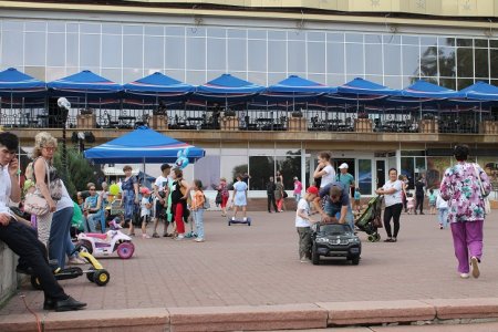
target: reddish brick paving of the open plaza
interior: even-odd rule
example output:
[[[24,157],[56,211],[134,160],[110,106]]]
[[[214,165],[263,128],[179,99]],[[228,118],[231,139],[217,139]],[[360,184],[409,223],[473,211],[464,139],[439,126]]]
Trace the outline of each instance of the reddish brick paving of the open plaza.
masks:
[[[370,243],[360,232],[364,241],[359,266],[344,260],[300,263],[292,211],[253,211],[250,227],[229,227],[218,211],[205,216],[206,242],[136,237],[132,259],[100,259],[111,273],[106,287],[85,277],[61,283],[90,310],[498,298],[496,210],[485,224],[477,280],[459,279],[450,231],[438,229],[436,216],[402,215],[396,243]],[[385,238],[384,230],[381,235]],[[41,292],[24,284],[19,293],[42,311]],[[0,315],[24,312],[15,295]]]

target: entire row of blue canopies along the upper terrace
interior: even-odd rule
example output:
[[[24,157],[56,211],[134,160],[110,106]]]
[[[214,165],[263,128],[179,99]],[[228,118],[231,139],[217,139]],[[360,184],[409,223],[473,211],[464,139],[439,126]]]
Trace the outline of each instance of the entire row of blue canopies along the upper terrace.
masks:
[[[328,86],[297,75],[268,87],[230,74],[203,85],[190,85],[162,73],[154,73],[141,80],[121,85],[91,71],[42,82],[13,68],[0,72],[0,97],[84,97],[86,101],[102,98],[135,98],[157,103],[158,101],[186,101],[187,98],[208,102],[311,102],[320,98],[325,103],[394,103],[402,105],[449,102],[452,104],[477,105],[498,102],[498,87],[477,82],[460,91],[446,89],[424,80],[414,82],[406,89],[395,90],[367,80],[356,77],[340,86]]]

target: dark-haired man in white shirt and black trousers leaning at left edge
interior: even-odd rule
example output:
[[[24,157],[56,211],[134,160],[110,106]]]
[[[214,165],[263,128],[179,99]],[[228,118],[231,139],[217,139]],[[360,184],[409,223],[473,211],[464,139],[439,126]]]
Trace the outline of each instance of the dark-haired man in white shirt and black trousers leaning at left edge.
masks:
[[[15,152],[19,138],[9,132],[0,133],[0,240],[19,256],[23,267],[18,271],[30,271],[40,280],[45,300],[43,309],[55,311],[79,310],[86,303],[79,302],[64,293],[55,280],[46,259],[46,248],[37,238],[34,229],[15,220],[9,205],[10,200],[21,200]]]

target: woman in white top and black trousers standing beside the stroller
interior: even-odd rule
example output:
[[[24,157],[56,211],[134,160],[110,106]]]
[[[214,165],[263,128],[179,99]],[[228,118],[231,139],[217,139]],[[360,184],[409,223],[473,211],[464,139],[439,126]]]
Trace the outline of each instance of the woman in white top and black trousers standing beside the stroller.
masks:
[[[384,195],[384,227],[387,239],[384,242],[396,242],[400,232],[400,216],[403,209],[403,183],[397,179],[396,168],[390,169],[390,180],[382,188],[375,190],[377,195]],[[391,219],[394,224],[394,232],[391,232]]]

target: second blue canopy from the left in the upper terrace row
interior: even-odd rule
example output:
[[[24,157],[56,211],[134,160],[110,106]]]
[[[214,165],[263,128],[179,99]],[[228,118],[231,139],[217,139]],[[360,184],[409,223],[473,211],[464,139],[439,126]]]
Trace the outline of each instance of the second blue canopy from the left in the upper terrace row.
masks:
[[[114,83],[91,71],[80,73],[49,82],[46,86],[53,96],[84,97],[85,107],[90,100],[118,98],[123,91],[121,84]]]

